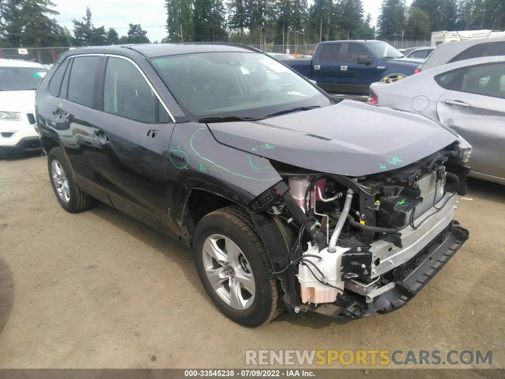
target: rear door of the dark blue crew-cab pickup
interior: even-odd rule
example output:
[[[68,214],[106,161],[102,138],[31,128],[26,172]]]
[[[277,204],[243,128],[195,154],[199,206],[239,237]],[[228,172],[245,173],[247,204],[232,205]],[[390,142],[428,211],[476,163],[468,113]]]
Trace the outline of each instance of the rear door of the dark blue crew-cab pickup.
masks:
[[[342,43],[323,43],[317,59],[312,60],[312,79],[318,86],[330,93],[341,90],[340,53]]]

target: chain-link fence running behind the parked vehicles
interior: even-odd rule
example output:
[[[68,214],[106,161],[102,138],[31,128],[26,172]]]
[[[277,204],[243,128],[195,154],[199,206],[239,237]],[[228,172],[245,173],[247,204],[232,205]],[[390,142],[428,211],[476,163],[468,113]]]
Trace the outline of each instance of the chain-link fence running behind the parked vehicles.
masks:
[[[430,41],[385,41],[396,49],[417,48],[418,46],[429,46]],[[298,43],[298,44],[265,44],[252,45],[256,49],[265,53],[283,53],[291,54],[295,57],[302,55],[312,55],[316,49],[317,43]],[[24,59],[40,64],[51,64],[56,62],[58,57],[66,52],[70,47],[59,48],[27,48],[27,49],[2,49],[0,48],[0,58]]]

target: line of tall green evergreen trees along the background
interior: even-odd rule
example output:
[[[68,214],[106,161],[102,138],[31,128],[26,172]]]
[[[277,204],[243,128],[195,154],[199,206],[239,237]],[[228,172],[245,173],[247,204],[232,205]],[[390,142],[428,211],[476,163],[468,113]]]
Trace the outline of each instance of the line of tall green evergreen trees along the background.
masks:
[[[335,39],[429,40],[432,31],[505,28],[505,0],[383,0],[377,30],[362,0],[158,0],[167,12],[162,42],[302,44]],[[379,1],[379,0],[377,0]],[[84,46],[149,42],[140,24],[126,35],[94,26],[91,11],[59,25],[51,0],[0,0],[0,46]]]

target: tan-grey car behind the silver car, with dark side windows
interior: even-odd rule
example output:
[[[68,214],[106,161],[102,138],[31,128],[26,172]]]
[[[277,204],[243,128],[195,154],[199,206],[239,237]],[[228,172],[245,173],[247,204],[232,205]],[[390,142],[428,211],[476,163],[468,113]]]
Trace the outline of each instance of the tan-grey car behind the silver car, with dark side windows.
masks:
[[[505,55],[505,37],[475,38],[445,42],[438,45],[433,54],[428,56],[418,67],[416,73],[466,59],[502,55]]]

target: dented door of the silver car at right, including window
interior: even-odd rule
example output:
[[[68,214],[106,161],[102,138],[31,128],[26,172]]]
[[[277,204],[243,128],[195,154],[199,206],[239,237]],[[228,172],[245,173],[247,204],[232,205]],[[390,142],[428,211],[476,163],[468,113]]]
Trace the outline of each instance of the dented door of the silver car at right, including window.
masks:
[[[437,102],[440,122],[472,145],[473,171],[505,178],[505,63],[459,71]]]

